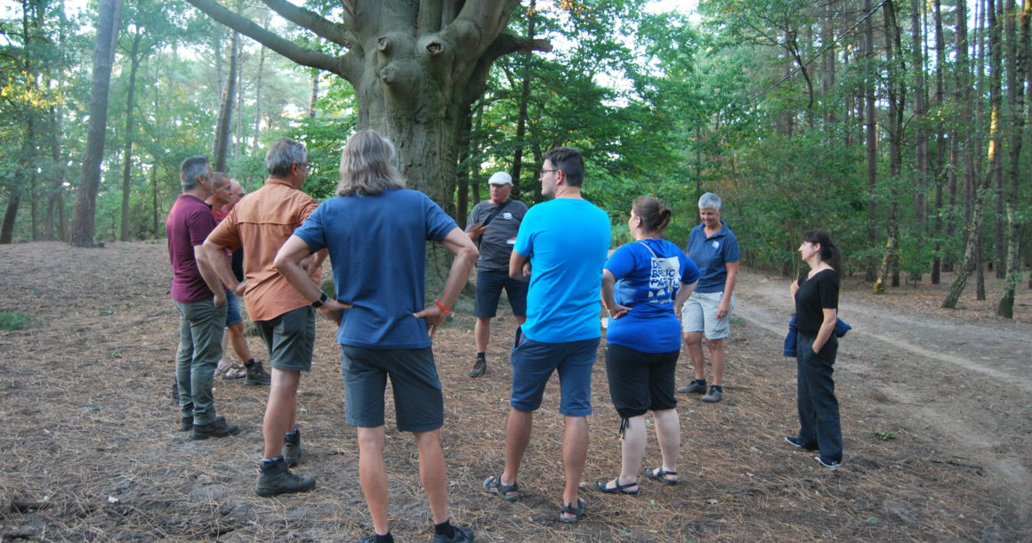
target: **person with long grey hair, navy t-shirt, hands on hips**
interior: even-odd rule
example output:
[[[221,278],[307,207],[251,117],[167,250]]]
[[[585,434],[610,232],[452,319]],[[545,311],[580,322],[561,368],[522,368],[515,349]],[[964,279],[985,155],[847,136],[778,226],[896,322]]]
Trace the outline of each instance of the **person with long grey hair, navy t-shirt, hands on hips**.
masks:
[[[337,196],[322,202],[284,244],[276,267],[305,299],[325,302],[323,313],[341,324],[345,409],[358,428],[358,479],[376,531],[361,541],[393,541],[383,458],[388,378],[397,428],[411,432],[419,449],[434,543],[473,541],[473,532],[453,525],[448,511],[444,394],[431,340],[470,277],[477,246],[440,205],[405,188],[390,165],[393,154],[393,145],[373,130],[352,135],[341,157]],[[426,242],[444,245],[455,258],[441,297],[424,307]],[[333,264],[333,297],[301,266],[305,255],[324,249]]]

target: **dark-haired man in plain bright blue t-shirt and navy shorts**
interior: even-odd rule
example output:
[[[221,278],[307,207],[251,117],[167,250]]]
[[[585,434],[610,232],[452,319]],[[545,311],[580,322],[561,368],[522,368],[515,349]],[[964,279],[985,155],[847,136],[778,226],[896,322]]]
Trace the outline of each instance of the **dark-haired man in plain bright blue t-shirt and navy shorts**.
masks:
[[[591,369],[599,349],[599,290],[609,252],[609,216],[581,197],[584,161],[571,148],[545,154],[541,192],[554,198],[526,213],[509,260],[509,275],[529,278],[526,322],[517,330],[511,360],[513,387],[506,430],[506,467],[484,489],[507,501],[519,498],[516,474],[530,441],[534,412],[545,384],[559,374],[563,415],[566,486],[559,520],[577,522],[587,505],[577,497],[587,454]]]

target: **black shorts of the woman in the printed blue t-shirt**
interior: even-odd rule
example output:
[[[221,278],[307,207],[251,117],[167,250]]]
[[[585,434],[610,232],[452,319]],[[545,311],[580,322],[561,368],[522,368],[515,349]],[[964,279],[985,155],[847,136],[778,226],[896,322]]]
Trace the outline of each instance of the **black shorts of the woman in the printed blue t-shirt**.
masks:
[[[680,351],[643,353],[621,345],[606,346],[609,395],[621,418],[677,407],[674,370]]]

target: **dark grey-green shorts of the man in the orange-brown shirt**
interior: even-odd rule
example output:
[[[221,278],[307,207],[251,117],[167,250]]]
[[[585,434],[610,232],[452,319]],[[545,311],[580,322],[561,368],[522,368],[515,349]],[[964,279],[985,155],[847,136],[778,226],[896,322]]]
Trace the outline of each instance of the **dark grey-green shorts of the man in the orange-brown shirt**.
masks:
[[[258,336],[272,368],[295,372],[312,370],[312,350],[316,343],[316,311],[308,306],[288,311],[269,320],[255,321]]]

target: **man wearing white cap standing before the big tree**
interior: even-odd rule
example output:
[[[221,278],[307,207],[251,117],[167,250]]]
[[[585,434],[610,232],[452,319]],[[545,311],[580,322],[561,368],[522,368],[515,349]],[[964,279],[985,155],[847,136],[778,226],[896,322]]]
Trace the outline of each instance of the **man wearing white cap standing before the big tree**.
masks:
[[[487,373],[487,341],[491,337],[491,319],[498,309],[502,289],[506,289],[516,326],[526,320],[526,286],[523,281],[509,277],[509,257],[516,244],[516,232],[526,215],[526,204],[509,197],[513,180],[505,171],[495,171],[487,181],[490,199],[484,200],[470,212],[465,232],[475,243],[480,243],[477,260],[477,301],[474,316],[477,325],[474,337],[477,344],[477,361],[470,370],[470,377]]]

